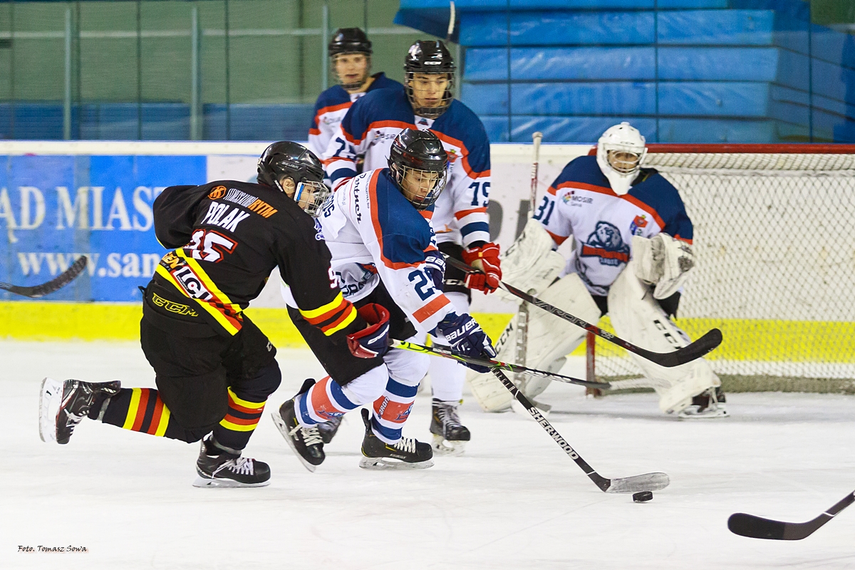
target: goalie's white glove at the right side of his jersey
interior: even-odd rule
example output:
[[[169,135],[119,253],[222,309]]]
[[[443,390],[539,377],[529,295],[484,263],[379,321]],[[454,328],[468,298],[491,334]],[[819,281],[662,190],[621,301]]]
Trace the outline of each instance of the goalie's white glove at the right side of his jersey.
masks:
[[[653,297],[664,299],[673,295],[689,278],[695,266],[692,246],[667,233],[652,238],[633,236],[635,277],[647,285],[656,285]]]

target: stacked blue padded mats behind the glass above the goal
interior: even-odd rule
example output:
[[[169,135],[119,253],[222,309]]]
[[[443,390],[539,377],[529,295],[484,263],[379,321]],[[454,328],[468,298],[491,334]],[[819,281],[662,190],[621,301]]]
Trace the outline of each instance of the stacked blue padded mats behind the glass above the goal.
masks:
[[[456,5],[460,97],[492,140],[590,143],[629,120],[658,142],[855,142],[855,37],[803,0]],[[447,0],[408,11],[448,24]]]

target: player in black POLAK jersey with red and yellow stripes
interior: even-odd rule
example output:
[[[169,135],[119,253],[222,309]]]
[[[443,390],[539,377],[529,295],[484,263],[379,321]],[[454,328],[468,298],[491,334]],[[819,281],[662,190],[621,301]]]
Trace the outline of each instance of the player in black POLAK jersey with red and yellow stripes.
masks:
[[[329,192],[322,178],[309,150],[280,142],[259,159],[258,184],[219,180],[164,190],[154,225],[172,250],[144,289],[140,322],[157,389],[45,379],[42,439],[68,444],[84,417],[188,443],[201,439],[194,485],[268,485],[268,465],[242,451],[281,373],[273,344],[244,309],[279,267],[298,311],[322,313],[312,325],[333,342],[346,345],[348,334],[366,327],[342,297],[310,215]]]

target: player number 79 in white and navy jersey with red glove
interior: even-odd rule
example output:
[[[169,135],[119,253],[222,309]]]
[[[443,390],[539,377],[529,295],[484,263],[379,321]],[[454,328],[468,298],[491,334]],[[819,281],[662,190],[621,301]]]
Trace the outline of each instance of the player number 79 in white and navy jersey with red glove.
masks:
[[[356,157],[365,167],[382,167],[392,141],[404,128],[435,133],[449,154],[451,169],[431,224],[439,250],[474,264],[485,274],[466,275],[449,268],[445,295],[458,313],[469,311],[471,290],[495,291],[502,273],[498,245],[490,242],[490,141],[481,120],[452,96],[455,63],[440,41],[418,41],[404,59],[405,91],[369,93],[351,107],[330,141],[324,159],[333,189],[356,174]],[[441,261],[438,259],[437,261]],[[466,368],[455,361],[431,358],[434,450],[457,453],[470,433],[460,422]]]

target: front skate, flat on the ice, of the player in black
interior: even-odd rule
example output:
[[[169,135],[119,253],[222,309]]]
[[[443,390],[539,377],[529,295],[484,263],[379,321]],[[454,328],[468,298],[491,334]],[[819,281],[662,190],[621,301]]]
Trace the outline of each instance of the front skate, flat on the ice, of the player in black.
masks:
[[[263,487],[270,485],[270,467],[263,461],[241,457],[237,450],[227,450],[214,436],[202,440],[196,461],[198,478],[194,487]]]

